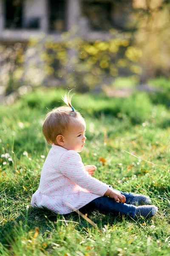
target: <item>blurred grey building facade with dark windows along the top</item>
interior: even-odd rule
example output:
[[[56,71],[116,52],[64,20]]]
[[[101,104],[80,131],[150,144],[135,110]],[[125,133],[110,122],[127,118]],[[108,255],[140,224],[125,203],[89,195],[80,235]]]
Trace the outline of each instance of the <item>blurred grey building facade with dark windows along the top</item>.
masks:
[[[28,41],[41,32],[60,41],[61,33],[79,26],[87,40],[105,40],[112,28],[125,30],[132,1],[0,0],[0,40]]]

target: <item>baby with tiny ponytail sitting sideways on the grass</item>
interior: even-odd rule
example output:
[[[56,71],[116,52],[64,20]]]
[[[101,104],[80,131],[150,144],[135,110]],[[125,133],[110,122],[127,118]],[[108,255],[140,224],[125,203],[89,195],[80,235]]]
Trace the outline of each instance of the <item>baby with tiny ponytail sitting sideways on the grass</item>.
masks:
[[[51,149],[42,167],[40,185],[32,207],[46,207],[57,214],[97,209],[102,214],[127,215],[133,219],[156,215],[145,195],[124,193],[92,177],[96,166],[84,166],[78,152],[85,145],[85,120],[65,95],[66,106],[48,112],[42,132]]]

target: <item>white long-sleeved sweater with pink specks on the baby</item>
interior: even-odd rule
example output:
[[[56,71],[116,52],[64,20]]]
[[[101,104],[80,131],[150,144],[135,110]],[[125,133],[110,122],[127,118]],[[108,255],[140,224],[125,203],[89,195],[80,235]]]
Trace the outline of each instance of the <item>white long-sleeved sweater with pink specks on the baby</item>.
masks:
[[[78,153],[52,145],[31,205],[67,214],[103,196],[108,188],[109,185],[88,174]]]

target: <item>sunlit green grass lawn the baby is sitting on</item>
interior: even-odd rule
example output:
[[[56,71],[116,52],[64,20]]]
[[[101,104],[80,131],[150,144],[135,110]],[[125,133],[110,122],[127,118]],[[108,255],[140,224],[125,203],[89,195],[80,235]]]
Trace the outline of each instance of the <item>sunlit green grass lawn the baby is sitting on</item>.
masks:
[[[94,228],[76,213],[27,207],[50,148],[42,123],[47,108],[62,104],[61,93],[41,89],[0,108],[0,255],[169,256],[170,112],[147,93],[76,94],[73,106],[87,123],[83,163],[96,165],[94,177],[116,189],[149,195],[156,217],[135,222],[95,211],[88,215]]]

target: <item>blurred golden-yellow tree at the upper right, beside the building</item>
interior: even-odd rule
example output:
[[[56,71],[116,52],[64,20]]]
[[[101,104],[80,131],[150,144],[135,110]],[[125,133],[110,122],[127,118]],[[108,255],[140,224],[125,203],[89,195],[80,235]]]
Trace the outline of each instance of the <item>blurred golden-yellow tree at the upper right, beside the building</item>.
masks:
[[[170,77],[170,0],[133,0],[136,20],[135,46],[143,52],[141,81],[148,77]]]

